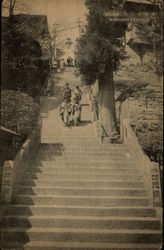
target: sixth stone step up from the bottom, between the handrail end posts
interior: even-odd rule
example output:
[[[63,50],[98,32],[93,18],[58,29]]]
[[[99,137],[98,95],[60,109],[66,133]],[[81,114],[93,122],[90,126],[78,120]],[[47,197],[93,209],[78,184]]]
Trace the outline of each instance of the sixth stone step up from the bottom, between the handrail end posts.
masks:
[[[60,188],[19,186],[17,194],[26,195],[78,195],[78,196],[146,196],[142,188]]]

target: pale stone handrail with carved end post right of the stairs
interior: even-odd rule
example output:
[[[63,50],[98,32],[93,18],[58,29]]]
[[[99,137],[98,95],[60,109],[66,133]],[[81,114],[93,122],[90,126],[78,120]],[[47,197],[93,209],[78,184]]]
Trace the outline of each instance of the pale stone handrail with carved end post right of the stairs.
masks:
[[[139,145],[138,138],[130,125],[128,99],[120,104],[120,136],[127,144],[136,168],[140,168],[145,186],[149,193],[150,203],[154,207],[161,206],[161,186],[159,166],[151,162]]]

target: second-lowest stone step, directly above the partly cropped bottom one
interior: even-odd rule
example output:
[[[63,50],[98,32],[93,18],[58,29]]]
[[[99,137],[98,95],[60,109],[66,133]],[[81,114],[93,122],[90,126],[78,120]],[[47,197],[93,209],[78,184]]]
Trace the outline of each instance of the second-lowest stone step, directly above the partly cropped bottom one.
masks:
[[[46,232],[46,233],[45,233]],[[157,230],[98,230],[73,228],[2,228],[2,241],[56,241],[98,243],[160,243],[161,232]]]

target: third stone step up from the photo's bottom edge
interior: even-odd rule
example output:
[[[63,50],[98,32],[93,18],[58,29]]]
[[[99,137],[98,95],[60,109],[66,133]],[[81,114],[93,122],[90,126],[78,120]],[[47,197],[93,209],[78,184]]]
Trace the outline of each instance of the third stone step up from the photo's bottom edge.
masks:
[[[145,229],[160,230],[160,221],[144,217],[97,217],[97,216],[11,216],[6,215],[1,227],[54,227],[90,229]]]

